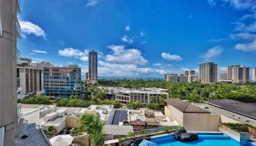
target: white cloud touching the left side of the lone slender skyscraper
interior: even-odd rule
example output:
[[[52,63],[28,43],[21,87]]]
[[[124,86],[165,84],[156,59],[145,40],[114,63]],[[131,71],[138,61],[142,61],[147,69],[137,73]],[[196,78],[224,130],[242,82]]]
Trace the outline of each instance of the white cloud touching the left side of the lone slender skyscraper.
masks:
[[[82,52],[82,51],[72,48],[72,47],[64,48],[63,50],[59,50],[59,55],[66,56],[66,57],[79,58],[81,61],[88,61],[88,53],[89,53],[89,50],[85,49]]]

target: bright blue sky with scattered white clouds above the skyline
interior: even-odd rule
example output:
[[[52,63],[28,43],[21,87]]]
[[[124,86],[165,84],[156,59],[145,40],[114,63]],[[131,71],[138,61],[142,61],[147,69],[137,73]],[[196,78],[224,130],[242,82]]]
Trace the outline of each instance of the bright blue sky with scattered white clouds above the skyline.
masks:
[[[163,77],[214,61],[256,66],[254,0],[23,0],[22,57],[99,76]]]

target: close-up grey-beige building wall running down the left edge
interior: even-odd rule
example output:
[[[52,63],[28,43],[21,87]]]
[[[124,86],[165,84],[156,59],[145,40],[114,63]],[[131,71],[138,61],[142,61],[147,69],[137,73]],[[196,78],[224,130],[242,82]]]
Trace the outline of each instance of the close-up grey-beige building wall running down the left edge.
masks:
[[[20,25],[17,0],[0,0],[0,146],[15,145],[18,134],[17,37]]]

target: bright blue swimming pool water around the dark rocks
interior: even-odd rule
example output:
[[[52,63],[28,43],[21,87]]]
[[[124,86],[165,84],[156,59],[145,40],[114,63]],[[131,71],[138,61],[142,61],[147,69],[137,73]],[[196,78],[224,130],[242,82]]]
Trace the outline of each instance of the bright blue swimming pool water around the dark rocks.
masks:
[[[228,137],[225,134],[198,134],[199,139],[193,142],[179,142],[174,139],[173,135],[165,137],[157,137],[151,139],[151,142],[157,143],[159,146],[241,146],[238,141]],[[246,144],[245,146],[251,146]]]

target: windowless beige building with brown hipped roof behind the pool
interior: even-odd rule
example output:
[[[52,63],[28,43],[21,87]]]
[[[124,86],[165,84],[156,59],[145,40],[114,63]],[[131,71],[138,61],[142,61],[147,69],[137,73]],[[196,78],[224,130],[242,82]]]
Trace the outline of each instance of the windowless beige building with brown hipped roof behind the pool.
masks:
[[[219,115],[211,114],[181,99],[166,101],[165,116],[176,121],[179,126],[184,126],[187,131],[218,131]]]

